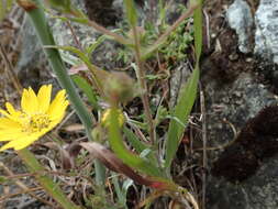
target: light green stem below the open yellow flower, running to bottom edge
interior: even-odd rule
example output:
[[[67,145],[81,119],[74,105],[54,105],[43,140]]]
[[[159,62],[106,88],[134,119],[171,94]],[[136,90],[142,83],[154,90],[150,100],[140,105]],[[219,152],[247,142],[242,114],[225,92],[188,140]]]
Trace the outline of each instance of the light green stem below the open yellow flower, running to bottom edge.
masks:
[[[73,201],[70,201],[63,193],[60,187],[54,183],[44,173],[44,167],[38,163],[35,156],[26,148],[18,151],[19,156],[29,166],[29,170],[35,173],[35,178],[44,187],[44,189],[65,209],[80,209]]]

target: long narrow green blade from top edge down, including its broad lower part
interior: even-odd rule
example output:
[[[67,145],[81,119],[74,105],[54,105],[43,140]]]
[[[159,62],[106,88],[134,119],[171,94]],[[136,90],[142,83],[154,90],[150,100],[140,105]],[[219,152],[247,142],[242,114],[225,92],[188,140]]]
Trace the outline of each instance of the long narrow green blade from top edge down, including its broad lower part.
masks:
[[[188,117],[194,103],[200,77],[199,61],[202,53],[202,0],[191,0],[190,3],[199,6],[193,11],[196,67],[188,82],[180,91],[178,103],[173,116],[174,118],[170,120],[168,138],[166,141],[165,161],[165,167],[168,169],[178,150],[178,145],[185,130],[185,127],[181,123],[188,123]],[[175,120],[175,118],[178,120]]]

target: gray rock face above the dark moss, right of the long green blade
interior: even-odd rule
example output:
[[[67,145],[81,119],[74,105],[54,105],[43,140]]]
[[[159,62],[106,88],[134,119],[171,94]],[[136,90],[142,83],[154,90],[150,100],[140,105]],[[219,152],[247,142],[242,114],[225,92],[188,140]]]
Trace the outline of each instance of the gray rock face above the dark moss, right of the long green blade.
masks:
[[[276,103],[275,95],[269,92],[264,85],[256,84],[249,74],[241,74],[234,82],[226,85],[221,85],[211,78],[207,80],[204,91],[208,106],[208,129],[210,142],[214,146],[234,138],[231,127],[224,123],[223,119],[240,130],[260,109]]]

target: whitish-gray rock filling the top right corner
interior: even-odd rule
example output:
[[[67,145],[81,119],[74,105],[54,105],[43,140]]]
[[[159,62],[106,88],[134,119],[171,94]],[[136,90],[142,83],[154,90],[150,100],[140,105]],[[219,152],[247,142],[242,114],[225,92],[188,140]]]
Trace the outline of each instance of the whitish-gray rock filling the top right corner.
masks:
[[[255,24],[255,53],[278,64],[278,0],[260,0]]]

